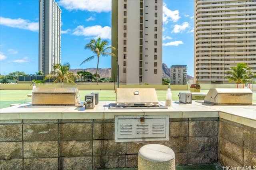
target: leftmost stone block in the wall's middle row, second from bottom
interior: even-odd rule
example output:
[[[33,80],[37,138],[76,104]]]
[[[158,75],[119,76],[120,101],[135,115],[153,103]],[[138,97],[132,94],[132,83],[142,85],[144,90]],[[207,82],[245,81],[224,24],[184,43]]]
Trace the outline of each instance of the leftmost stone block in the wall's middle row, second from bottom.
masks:
[[[0,142],[0,159],[22,158],[22,142]]]

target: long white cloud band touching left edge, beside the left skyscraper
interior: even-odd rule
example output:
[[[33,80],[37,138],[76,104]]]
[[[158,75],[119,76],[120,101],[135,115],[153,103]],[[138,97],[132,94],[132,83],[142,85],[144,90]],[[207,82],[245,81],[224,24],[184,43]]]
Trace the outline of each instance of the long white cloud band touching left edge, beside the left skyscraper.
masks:
[[[14,27],[14,28],[20,28],[20,29],[27,29],[27,30],[35,31],[35,32],[37,32],[39,29],[38,22],[31,22],[29,20],[23,20],[21,18],[11,19],[11,18],[0,17],[0,25],[5,25],[8,27]]]

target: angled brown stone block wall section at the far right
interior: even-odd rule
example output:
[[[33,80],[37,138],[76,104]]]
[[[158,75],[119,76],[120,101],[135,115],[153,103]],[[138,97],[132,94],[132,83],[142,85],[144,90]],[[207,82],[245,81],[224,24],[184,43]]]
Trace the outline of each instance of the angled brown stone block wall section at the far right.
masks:
[[[219,162],[222,166],[256,168],[256,129],[220,119]],[[254,166],[254,167],[253,167]]]

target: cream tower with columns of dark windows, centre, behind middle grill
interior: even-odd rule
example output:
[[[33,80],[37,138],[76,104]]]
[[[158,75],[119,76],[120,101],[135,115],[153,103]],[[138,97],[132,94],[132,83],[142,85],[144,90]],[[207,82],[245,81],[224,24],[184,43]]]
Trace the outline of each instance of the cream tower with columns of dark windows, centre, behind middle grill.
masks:
[[[113,80],[162,84],[162,6],[162,0],[112,0]]]

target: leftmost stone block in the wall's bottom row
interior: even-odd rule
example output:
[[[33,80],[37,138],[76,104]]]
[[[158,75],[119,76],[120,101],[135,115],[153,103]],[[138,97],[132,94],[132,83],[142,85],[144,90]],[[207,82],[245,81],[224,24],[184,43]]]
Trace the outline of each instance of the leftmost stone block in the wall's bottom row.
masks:
[[[0,160],[0,170],[22,170],[22,159]]]

